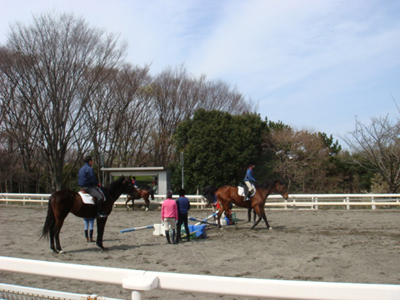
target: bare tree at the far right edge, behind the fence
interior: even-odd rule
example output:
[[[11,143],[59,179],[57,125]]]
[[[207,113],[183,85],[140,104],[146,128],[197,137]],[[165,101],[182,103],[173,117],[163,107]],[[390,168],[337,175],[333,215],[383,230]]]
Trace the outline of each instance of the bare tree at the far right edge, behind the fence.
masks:
[[[353,154],[352,162],[378,173],[396,193],[400,188],[400,122],[388,116],[371,118],[369,125],[356,121],[356,129],[342,138]],[[354,155],[353,155],[354,156]]]

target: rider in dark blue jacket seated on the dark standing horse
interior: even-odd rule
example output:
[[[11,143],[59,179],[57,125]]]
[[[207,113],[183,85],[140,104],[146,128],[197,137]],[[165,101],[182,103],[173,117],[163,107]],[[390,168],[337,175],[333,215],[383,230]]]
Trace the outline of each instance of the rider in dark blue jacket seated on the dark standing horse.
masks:
[[[96,201],[97,217],[106,218],[107,215],[103,213],[103,202],[105,200],[104,194],[99,187],[99,182],[93,171],[93,160],[91,156],[84,158],[84,165],[78,172],[78,185],[81,190],[90,194]]]

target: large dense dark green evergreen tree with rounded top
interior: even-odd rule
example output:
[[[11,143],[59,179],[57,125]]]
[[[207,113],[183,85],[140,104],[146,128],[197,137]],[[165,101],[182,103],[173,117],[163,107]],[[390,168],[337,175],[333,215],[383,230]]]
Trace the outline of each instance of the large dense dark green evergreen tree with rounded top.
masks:
[[[197,110],[175,135],[177,153],[184,154],[185,189],[195,193],[208,185],[238,184],[248,164],[263,165],[267,134],[268,126],[259,115]],[[180,183],[175,176],[174,188]]]

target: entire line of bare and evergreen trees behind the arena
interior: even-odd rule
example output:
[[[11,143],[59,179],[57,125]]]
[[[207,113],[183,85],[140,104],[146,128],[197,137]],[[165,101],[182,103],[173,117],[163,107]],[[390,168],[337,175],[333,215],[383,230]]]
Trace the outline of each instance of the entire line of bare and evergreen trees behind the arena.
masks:
[[[238,184],[249,163],[259,183],[291,193],[396,192],[399,123],[357,124],[343,151],[332,136],[262,120],[223,81],[184,66],[150,75],[126,46],[73,15],[15,24],[0,48],[0,191],[76,189],[86,154],[105,167],[164,166],[173,188]],[[183,158],[183,160],[181,160]],[[182,163],[184,165],[182,166]]]

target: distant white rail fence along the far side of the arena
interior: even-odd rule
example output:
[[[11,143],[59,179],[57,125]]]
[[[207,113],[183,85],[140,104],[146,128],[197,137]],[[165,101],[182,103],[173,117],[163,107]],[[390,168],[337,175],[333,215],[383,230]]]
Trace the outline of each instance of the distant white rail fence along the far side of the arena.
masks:
[[[50,194],[0,194],[0,203],[38,203],[44,205],[48,202]],[[174,197],[178,197],[175,195]],[[187,196],[191,205],[198,208],[205,208],[206,200],[201,195]],[[161,204],[165,196],[155,195],[152,204]],[[122,195],[116,202],[116,206],[124,206],[126,195]],[[142,204],[143,200],[135,200],[135,203]],[[280,195],[270,195],[265,204],[267,208],[280,209],[319,209],[320,207],[396,207],[400,208],[400,194],[291,194],[288,200],[284,200]]]

